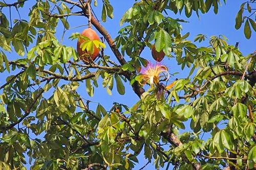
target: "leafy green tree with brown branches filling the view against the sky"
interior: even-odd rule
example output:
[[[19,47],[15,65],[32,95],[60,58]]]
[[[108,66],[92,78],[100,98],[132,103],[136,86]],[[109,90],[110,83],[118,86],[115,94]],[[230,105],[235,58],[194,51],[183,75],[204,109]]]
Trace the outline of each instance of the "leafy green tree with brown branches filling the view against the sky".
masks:
[[[115,39],[93,15],[96,0],[37,0],[28,7],[29,2],[0,2],[0,71],[10,74],[0,87],[1,169],[26,169],[25,155],[32,169],[132,169],[139,154],[154,161],[156,169],[255,168],[255,53],[243,56],[223,35],[199,34],[195,41],[209,46],[198,47],[187,40],[189,33],[180,33],[185,20],[169,15],[199,16],[211,8],[218,13],[220,1],[136,2],[124,13],[120,25],[126,25]],[[108,0],[102,3],[101,20],[106,21],[113,7]],[[243,3],[236,17],[236,29],[244,22],[248,39],[256,28],[254,4]],[[12,20],[11,13],[22,8],[29,18]],[[243,17],[245,8],[248,17]],[[104,41],[73,33],[69,40],[84,39],[81,47],[89,53],[94,45],[101,49],[97,62],[89,57],[83,63],[63,36],[56,38],[58,23],[64,35],[71,29],[68,19],[78,16],[87,17],[89,27],[104,37],[111,56],[104,54]],[[140,57],[153,45],[189,68],[187,78],[168,82],[166,66]],[[11,51],[22,57],[10,60]],[[101,81],[110,94],[115,84],[120,95],[130,83],[139,97],[136,104],[92,108],[77,89],[86,82],[93,96]],[[187,121],[193,132],[179,133]],[[200,139],[202,133],[209,134],[208,140]]]

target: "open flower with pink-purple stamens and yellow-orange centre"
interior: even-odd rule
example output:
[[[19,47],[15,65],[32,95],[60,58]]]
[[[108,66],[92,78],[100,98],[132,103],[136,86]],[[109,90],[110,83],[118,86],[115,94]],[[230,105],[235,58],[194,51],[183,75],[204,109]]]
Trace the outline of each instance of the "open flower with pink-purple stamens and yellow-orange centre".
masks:
[[[142,68],[140,73],[141,75],[139,77],[139,83],[141,85],[145,85],[149,81],[148,83],[150,83],[150,86],[153,87],[154,84],[159,84],[159,79],[161,77],[166,78],[167,76],[166,80],[169,79],[168,68],[159,62],[156,64],[148,62],[147,67]],[[160,75],[161,73],[163,75]]]

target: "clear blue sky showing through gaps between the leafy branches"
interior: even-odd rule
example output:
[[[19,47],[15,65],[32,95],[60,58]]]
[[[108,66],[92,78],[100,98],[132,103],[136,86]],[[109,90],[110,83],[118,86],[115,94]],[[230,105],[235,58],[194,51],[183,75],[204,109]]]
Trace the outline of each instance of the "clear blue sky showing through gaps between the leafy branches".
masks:
[[[14,2],[14,1],[7,1],[8,3]],[[222,2],[222,7],[219,8],[218,14],[214,14],[213,9],[211,9],[207,14],[200,14],[200,19],[197,17],[196,13],[193,13],[193,15],[190,18],[186,18],[184,14],[182,15],[175,15],[174,13],[170,13],[170,16],[173,18],[180,18],[180,19],[185,19],[189,21],[188,23],[182,23],[183,31],[182,33],[185,34],[187,32],[190,32],[190,36],[187,38],[188,40],[193,41],[195,36],[197,34],[206,34],[208,36],[211,35],[220,35],[223,34],[225,35],[229,41],[229,44],[236,44],[236,42],[239,42],[239,48],[241,52],[244,55],[247,55],[249,53],[252,53],[255,50],[255,33],[252,31],[252,36],[251,39],[247,40],[243,34],[243,29],[236,30],[234,28],[235,25],[235,17],[236,14],[240,8],[240,5],[243,1],[227,1],[227,4],[224,5]],[[30,0],[28,3],[25,3],[25,8],[20,9],[20,14],[23,17],[25,17],[28,20],[28,7],[31,8],[31,4],[34,3],[34,1]],[[114,7],[114,18],[110,19],[107,18],[106,22],[101,22],[101,24],[106,28],[106,30],[109,31],[110,35],[112,38],[115,38],[117,36],[117,33],[119,29],[121,28],[119,26],[119,20],[121,19],[123,13],[132,7],[132,5],[135,3],[135,1],[124,1],[124,0],[119,0],[119,1],[114,1],[110,0],[110,3]],[[93,7],[94,12],[96,13],[96,16],[101,18],[101,7],[102,3],[101,1],[98,1],[98,7]],[[75,12],[76,10],[74,9],[72,12]],[[5,10],[7,16],[9,13],[7,13],[7,8]],[[9,16],[8,16],[9,17]],[[18,15],[13,9],[12,13],[12,19],[17,18]],[[78,17],[69,17],[68,21],[70,22],[70,26],[72,27],[77,27],[80,25],[86,25],[88,23],[86,17],[78,16]],[[243,27],[243,26],[242,26]],[[73,46],[76,48],[76,41],[71,41],[68,39],[68,37],[73,33],[73,32],[81,32],[83,29],[87,28],[87,26],[80,27],[77,29],[69,30],[66,32],[65,37],[62,41],[63,44],[67,46]],[[57,37],[60,40],[60,37],[62,35],[63,27],[62,24],[60,23],[57,27]],[[106,42],[105,42],[106,43]],[[203,46],[203,45],[208,45],[207,43],[202,43],[202,44],[197,44],[198,46]],[[114,59],[114,55],[110,48],[106,47],[105,49],[105,54],[111,56],[111,59]],[[146,48],[145,51],[141,55],[142,57],[152,60],[151,57],[151,51],[149,48]],[[124,56],[126,60],[129,60],[129,57]],[[14,60],[19,58],[19,56],[15,53],[11,53],[8,55],[9,60]],[[188,75],[188,69],[181,70],[180,66],[177,65],[177,62],[175,59],[165,59],[163,60],[163,63],[169,67],[169,72],[174,73],[174,72],[180,72],[180,74],[176,75],[175,78],[185,78]],[[11,74],[14,74],[13,72]],[[1,75],[2,76],[2,75]],[[10,76],[5,72],[4,78]],[[173,78],[173,79],[175,79]],[[0,85],[4,83],[4,79],[0,80]],[[106,110],[109,110],[112,107],[113,102],[118,102],[118,103],[123,103],[128,106],[132,106],[133,104],[138,101],[137,95],[133,92],[131,86],[127,83],[125,85],[125,90],[126,93],[125,95],[120,95],[117,93],[116,88],[114,86],[113,88],[113,94],[109,95],[105,89],[103,89],[101,85],[101,80],[99,81],[99,88],[95,89],[95,93],[93,98],[90,98],[87,93],[86,93],[86,86],[85,83],[81,83],[81,86],[79,87],[79,93],[82,94],[83,98],[86,98],[88,100],[94,101],[94,102],[100,102]],[[47,96],[46,96],[47,97]],[[97,104],[92,104],[92,109],[97,106]],[[189,124],[186,124],[189,130]],[[207,136],[206,136],[207,137]],[[143,155],[139,156],[140,163],[136,166],[135,169],[140,168],[143,166],[147,161],[144,160]],[[144,169],[154,169],[154,166],[152,164],[146,166]]]

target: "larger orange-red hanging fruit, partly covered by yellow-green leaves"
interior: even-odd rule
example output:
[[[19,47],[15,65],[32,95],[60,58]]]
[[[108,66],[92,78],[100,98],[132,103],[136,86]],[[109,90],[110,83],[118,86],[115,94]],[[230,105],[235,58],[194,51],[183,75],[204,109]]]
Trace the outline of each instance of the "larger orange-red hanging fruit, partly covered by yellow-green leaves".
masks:
[[[98,34],[91,28],[83,30],[81,35],[88,37],[90,40],[100,40]],[[80,60],[82,60],[83,62],[89,63],[88,57],[90,56],[91,59],[94,61],[99,54],[99,49],[94,45],[93,54],[90,54],[86,50],[82,51],[82,48],[80,48],[80,45],[84,41],[85,41],[84,39],[79,39],[77,41],[77,45],[76,45],[77,53]]]

